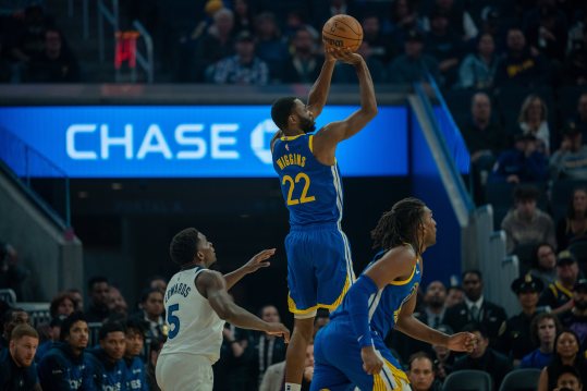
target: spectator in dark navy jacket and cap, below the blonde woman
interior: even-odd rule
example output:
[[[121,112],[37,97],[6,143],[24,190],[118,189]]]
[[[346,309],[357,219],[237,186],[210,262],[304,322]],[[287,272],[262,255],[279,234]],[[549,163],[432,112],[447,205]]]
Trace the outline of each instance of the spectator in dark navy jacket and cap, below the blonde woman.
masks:
[[[489,176],[491,182],[525,183],[548,179],[548,158],[533,134],[516,134],[512,148],[502,151]]]

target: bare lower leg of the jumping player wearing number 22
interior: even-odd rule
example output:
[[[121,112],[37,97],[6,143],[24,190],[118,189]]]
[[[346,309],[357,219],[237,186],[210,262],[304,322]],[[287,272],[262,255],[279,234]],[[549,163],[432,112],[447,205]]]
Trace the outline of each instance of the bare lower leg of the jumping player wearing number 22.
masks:
[[[311,342],[313,333],[314,317],[294,319],[294,330],[285,355],[285,391],[290,391],[288,390],[288,383],[297,384],[297,390],[299,390],[302,376],[304,375],[306,347]],[[292,387],[290,389],[296,391],[296,388]]]

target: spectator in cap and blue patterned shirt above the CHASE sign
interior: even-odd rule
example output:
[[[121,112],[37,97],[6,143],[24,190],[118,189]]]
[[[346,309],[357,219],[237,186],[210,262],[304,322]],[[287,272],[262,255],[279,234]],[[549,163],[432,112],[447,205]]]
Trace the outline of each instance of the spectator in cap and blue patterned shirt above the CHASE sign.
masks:
[[[269,66],[255,56],[255,39],[249,32],[239,33],[235,52],[206,71],[206,78],[215,84],[262,86],[269,82]]]

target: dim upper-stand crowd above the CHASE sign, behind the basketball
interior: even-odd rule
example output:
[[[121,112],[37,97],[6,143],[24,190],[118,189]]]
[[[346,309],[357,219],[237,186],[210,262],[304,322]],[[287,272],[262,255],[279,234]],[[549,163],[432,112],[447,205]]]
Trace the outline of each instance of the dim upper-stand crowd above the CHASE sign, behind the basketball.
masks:
[[[9,1],[2,10],[1,82],[105,82],[81,76],[48,3]],[[195,14],[173,4],[121,2],[120,24],[146,25],[158,72],[174,82],[311,83],[323,59],[321,27],[339,13],[360,22],[358,51],[376,84],[427,73],[444,88],[587,82],[580,0],[200,0]],[[335,72],[334,83],[355,82],[346,66]]]

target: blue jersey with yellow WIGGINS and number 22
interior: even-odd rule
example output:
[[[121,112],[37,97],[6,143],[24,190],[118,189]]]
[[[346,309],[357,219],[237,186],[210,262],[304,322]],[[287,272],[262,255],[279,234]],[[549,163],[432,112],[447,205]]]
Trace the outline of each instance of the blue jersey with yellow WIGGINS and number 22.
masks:
[[[290,210],[291,227],[340,223],[342,182],[339,166],[319,162],[311,134],[281,137],[273,145],[273,169]]]

